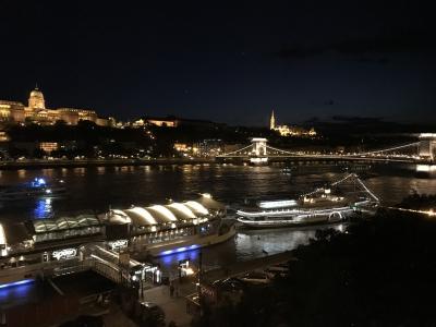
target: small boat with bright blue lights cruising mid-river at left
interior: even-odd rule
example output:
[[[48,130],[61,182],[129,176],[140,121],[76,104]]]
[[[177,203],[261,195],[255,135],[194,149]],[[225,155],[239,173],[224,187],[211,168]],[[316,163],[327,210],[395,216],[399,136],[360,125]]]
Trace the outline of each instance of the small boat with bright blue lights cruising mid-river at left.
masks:
[[[34,199],[39,197],[53,197],[65,193],[63,181],[56,184],[47,183],[43,178],[20,185],[0,187],[0,202]]]

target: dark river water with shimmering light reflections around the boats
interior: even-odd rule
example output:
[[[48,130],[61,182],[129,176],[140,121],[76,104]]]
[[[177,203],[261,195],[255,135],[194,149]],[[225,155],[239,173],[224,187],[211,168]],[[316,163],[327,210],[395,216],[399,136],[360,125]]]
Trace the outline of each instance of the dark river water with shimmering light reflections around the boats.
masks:
[[[328,171],[328,170],[327,170]],[[235,165],[180,165],[143,167],[56,168],[40,170],[0,171],[1,184],[17,184],[36,177],[48,181],[63,180],[68,194],[23,203],[0,204],[1,219],[44,219],[50,216],[73,215],[83,210],[104,211],[146,206],[153,203],[193,199],[199,193],[210,193],[227,204],[241,203],[244,198],[294,198],[325,182],[340,179],[340,169],[310,169],[298,174],[284,174],[282,166],[250,167]],[[436,179],[420,177],[413,168],[405,170],[384,166],[365,173],[366,185],[386,205],[400,202],[413,190],[435,193]],[[340,226],[337,228],[341,228]],[[206,266],[216,267],[235,261],[250,259],[292,250],[307,242],[314,229],[240,231],[233,241],[204,250]],[[165,265],[178,259],[195,259],[198,253],[165,257]]]

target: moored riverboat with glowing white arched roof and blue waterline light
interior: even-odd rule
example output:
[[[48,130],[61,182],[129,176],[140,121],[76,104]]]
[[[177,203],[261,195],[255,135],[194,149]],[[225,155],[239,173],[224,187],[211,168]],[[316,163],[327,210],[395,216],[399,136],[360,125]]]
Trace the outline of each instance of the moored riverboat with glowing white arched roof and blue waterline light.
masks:
[[[140,256],[165,256],[218,244],[235,234],[223,221],[226,206],[208,194],[196,201],[112,209],[107,214],[108,239],[129,239]]]

